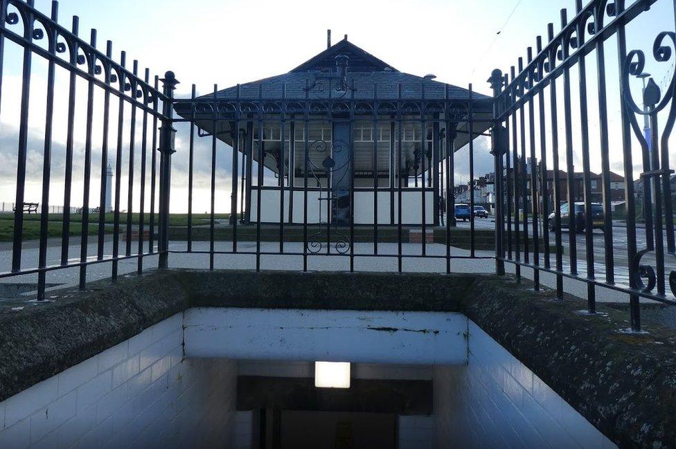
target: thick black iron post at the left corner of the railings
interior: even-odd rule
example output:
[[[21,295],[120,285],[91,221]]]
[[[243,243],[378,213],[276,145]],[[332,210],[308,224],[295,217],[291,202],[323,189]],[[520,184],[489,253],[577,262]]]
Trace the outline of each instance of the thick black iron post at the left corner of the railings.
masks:
[[[174,149],[174,138],[176,129],[172,127],[172,116],[174,111],[174,90],[176,84],[179,84],[173,72],[168,71],[161,80],[162,89],[165,98],[162,102],[162,125],[159,129],[159,238],[157,241],[157,250],[159,252],[160,269],[168,268],[169,264],[169,192],[171,185],[171,155],[176,152]]]

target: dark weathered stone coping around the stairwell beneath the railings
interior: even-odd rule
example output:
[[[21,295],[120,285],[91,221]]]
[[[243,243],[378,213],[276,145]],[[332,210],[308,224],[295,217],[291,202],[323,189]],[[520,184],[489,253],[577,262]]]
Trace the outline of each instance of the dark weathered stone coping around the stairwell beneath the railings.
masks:
[[[170,270],[51,297],[0,303],[0,401],[193,306],[456,311],[619,446],[676,447],[676,331],[512,277]]]

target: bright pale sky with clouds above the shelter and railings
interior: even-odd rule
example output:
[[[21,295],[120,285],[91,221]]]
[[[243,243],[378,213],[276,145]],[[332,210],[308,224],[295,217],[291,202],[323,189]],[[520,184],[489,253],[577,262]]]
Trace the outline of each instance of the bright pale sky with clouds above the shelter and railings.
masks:
[[[586,3],[586,2],[585,2]],[[628,0],[628,3],[632,3]],[[39,10],[48,12],[51,2],[35,0]],[[574,15],[573,0],[419,0],[419,1],[233,1],[233,0],[118,0],[115,3],[91,0],[63,0],[60,2],[60,24],[69,26],[71,16],[80,17],[80,35],[89,36],[90,28],[98,30],[98,47],[112,40],[116,59],[127,51],[127,65],[139,59],[141,72],[150,68],[152,75],[175,72],[180,84],[179,98],[189,95],[192,84],[197,92],[213,91],[237,83],[258,80],[289,71],[326,48],[326,30],[332,30],[337,42],[347,34],[350,42],[383,59],[400,71],[413,75],[436,75],[436,80],[490,93],[486,80],[492,69],[508,71],[525,57],[526,48],[535,46],[537,35],[546,35],[549,22],[560,29],[560,10],[569,8]],[[658,0],[653,10],[642,15],[628,29],[631,48],[646,51],[650,64],[646,70],[655,75],[658,84],[673,73],[673,59],[666,64],[654,63],[650,50],[657,33],[673,30],[673,2]],[[646,30],[649,32],[646,33]],[[630,48],[630,49],[631,49]],[[607,53],[608,89],[619,91],[617,62],[614,58],[614,39],[610,39]],[[42,135],[44,134],[44,98],[46,96],[46,63],[34,57],[30,95],[30,139],[26,201],[40,201],[42,177]],[[587,58],[589,97],[596,93],[596,57]],[[573,77],[576,71],[573,71]],[[53,136],[53,169],[50,203],[63,203],[64,142],[66,136],[66,100],[68,81],[64,71],[57,71],[55,122]],[[632,84],[634,89],[637,84]],[[3,68],[3,91],[0,102],[0,201],[11,202],[15,197],[16,141],[19,125],[21,88],[21,49],[6,45]],[[78,82],[75,111],[75,172],[73,175],[73,203],[82,201],[82,154],[84,147],[85,93],[87,84]],[[640,88],[639,88],[640,89]],[[548,91],[547,91],[548,92]],[[635,96],[640,100],[640,91]],[[616,95],[615,95],[616,96]],[[610,98],[612,167],[621,170],[621,157],[614,157],[619,149],[619,122],[612,114],[619,111],[619,102]],[[103,94],[95,95],[95,116],[100,117]],[[579,110],[579,91],[573,82],[573,111]],[[639,101],[637,100],[637,101]],[[640,101],[639,101],[640,102]],[[562,102],[560,102],[562,103]],[[594,142],[598,140],[598,106],[589,101],[589,127]],[[116,105],[112,108],[116,117]],[[126,111],[125,135],[128,133]],[[561,116],[561,114],[560,114]],[[140,120],[140,118],[139,118]],[[562,120],[560,120],[562,122]],[[664,120],[663,120],[664,122]],[[110,122],[111,129],[115,123]],[[580,138],[579,119],[573,119],[574,138]],[[94,140],[103,129],[100,119],[94,122]],[[561,133],[560,133],[561,134]],[[539,141],[539,133],[537,134]],[[549,136],[549,131],[548,131]],[[137,139],[141,139],[140,132]],[[177,154],[172,173],[172,211],[183,212],[187,206],[187,140],[186,129],[179,127]],[[202,139],[206,140],[206,139]],[[592,169],[598,172],[598,143],[590,141]],[[203,145],[204,144],[204,145]],[[208,205],[208,170],[211,161],[205,145],[197,151],[195,210],[206,210]],[[91,196],[98,203],[98,171],[100,170],[100,143],[93,148]],[[110,145],[114,149],[114,141]],[[137,143],[137,148],[140,142]],[[150,142],[148,143],[150,147]],[[581,169],[579,145],[575,145],[576,167]],[[634,145],[636,147],[636,145]],[[539,150],[538,150],[539,151]],[[548,150],[549,151],[549,150]],[[98,159],[97,159],[98,156]],[[136,151],[139,156],[139,150]],[[637,161],[637,156],[634,160]],[[150,153],[148,154],[150,158]],[[464,162],[467,151],[457,156],[456,179],[467,181]],[[217,162],[218,185],[223,198],[229,197],[230,162],[226,149]],[[486,140],[477,141],[475,156],[477,174],[492,171],[492,157]],[[112,161],[115,163],[115,161]],[[123,160],[123,172],[127,161]],[[672,166],[674,163],[672,163]],[[139,169],[139,163],[136,163]],[[126,178],[123,178],[121,197],[125,202]],[[138,185],[134,202],[139,201]],[[124,207],[123,207],[124,208]],[[228,201],[217,208],[229,209]]]

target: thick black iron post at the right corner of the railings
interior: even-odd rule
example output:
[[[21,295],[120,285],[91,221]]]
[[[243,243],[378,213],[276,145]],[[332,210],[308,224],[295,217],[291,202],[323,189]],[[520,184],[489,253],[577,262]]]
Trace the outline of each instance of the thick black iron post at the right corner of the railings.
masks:
[[[500,116],[498,98],[504,84],[502,71],[496,68],[488,78],[491,89],[493,89],[493,119],[491,138],[491,154],[495,160],[495,274],[505,274],[504,248],[502,238],[504,234],[504,222],[502,216],[502,155],[504,148],[501,146],[501,127],[497,118]]]

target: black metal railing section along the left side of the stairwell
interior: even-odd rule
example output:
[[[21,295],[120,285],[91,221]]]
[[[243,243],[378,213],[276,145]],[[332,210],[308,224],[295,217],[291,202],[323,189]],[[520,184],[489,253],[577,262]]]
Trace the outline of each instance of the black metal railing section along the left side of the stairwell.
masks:
[[[52,3],[51,15],[44,15],[35,9],[33,0],[0,1],[0,73],[6,73],[12,64],[11,60],[9,64],[4,64],[9,46],[18,48],[22,54],[20,104],[10,103],[0,115],[0,118],[6,115],[19,116],[15,212],[11,230],[12,262],[6,271],[0,273],[0,277],[37,274],[38,300],[45,297],[46,275],[52,271],[78,267],[80,288],[84,288],[87,268],[93,264],[110,263],[112,277],[116,279],[118,263],[124,259],[136,259],[137,271],[140,273],[143,270],[143,257],[158,253],[157,222],[162,222],[161,217],[168,211],[166,203],[162,203],[163,195],[160,195],[159,213],[156,207],[157,163],[155,152],[148,154],[148,146],[151,150],[157,147],[157,122],[169,122],[171,102],[165,101],[168,97],[159,90],[157,77],[154,83],[150,80],[148,69],[139,75],[136,61],[132,68],[127,68],[125,52],[116,62],[112,56],[112,42],[107,42],[105,53],[100,51],[97,48],[96,30],[91,30],[87,42],[79,36],[78,17],[73,17],[72,28],[66,29],[58,24],[57,12],[56,1]],[[35,70],[36,64],[40,67],[46,64],[46,75],[41,70]],[[57,83],[60,75],[66,75],[67,81]],[[39,86],[46,85],[44,109],[40,111],[33,109],[31,99],[31,87],[36,83]],[[86,84],[84,97],[78,95],[82,84]],[[68,91],[68,100],[66,104],[57,104],[55,90],[62,87]],[[12,106],[16,106],[16,109],[12,110]],[[160,107],[163,107],[163,112],[159,111]],[[116,120],[114,113],[117,114]],[[55,118],[61,118],[61,114],[66,118],[64,153],[55,154],[55,147],[62,144],[54,136],[55,131],[61,131],[55,129]],[[77,122],[83,116],[84,134],[78,133]],[[37,121],[37,117],[44,117],[45,120],[44,127],[40,124],[37,130],[44,133],[42,140],[30,137],[31,132],[36,131],[32,122]],[[6,129],[3,131],[8,132]],[[42,148],[38,149],[37,145]],[[80,147],[81,152],[78,151]],[[111,154],[112,151],[114,154]],[[30,152],[35,154],[35,158],[42,158],[39,193],[26,190],[27,169],[33,169],[29,166],[34,159],[32,157],[29,160]],[[62,163],[64,166],[62,179],[53,176],[55,169],[52,162],[55,156],[63,158],[63,161],[59,161],[59,165]],[[100,160],[98,167],[94,166],[94,156],[97,161]],[[109,156],[114,156],[114,186],[108,185]],[[100,170],[98,179],[92,177],[92,169]],[[150,186],[147,182],[148,171]],[[127,181],[126,201],[122,199],[123,178]],[[160,190],[168,190],[168,185],[162,187],[163,179],[166,178],[162,178],[161,174]],[[96,191],[93,183],[97,181],[100,183],[98,201],[90,197],[91,191]],[[55,185],[63,185],[62,196],[58,199],[54,198],[54,194],[61,192]],[[82,190],[81,200],[78,192],[78,214],[73,213],[73,188]],[[139,190],[138,194],[136,189]],[[37,263],[27,267],[22,260],[27,251],[24,248],[24,235],[28,233],[29,225],[35,223],[24,218],[24,210],[29,203],[39,204],[40,214]],[[62,205],[62,214],[50,215],[51,203]],[[80,223],[74,221],[78,216]],[[125,223],[121,220],[123,217]],[[90,219],[93,223],[90,223]],[[90,224],[95,223],[97,229],[93,232]],[[54,237],[50,228],[55,227],[61,230],[60,236],[55,237],[60,239],[60,254],[49,255],[48,247],[53,246],[49,238]],[[106,238],[110,231],[112,247]],[[146,231],[147,238],[144,237]],[[159,231],[159,252],[166,255],[166,241],[162,241],[163,228],[160,227]],[[71,233],[77,232],[81,234],[79,255],[71,259]],[[95,249],[90,248],[90,234],[96,235]],[[125,237],[124,245],[120,241],[121,236]],[[134,245],[132,240],[136,236],[138,242]],[[51,262],[50,257],[58,262]]]

